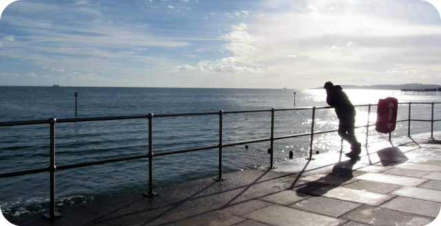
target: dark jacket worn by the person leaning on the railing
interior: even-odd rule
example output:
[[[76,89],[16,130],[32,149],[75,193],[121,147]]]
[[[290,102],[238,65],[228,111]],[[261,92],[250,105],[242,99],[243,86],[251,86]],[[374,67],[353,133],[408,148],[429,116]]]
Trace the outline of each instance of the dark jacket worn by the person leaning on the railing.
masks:
[[[334,85],[326,90],[327,98],[326,102],[329,106],[336,109],[338,119],[342,119],[345,116],[354,116],[356,110],[353,107],[351,101],[347,97],[347,94],[343,92],[340,85]]]

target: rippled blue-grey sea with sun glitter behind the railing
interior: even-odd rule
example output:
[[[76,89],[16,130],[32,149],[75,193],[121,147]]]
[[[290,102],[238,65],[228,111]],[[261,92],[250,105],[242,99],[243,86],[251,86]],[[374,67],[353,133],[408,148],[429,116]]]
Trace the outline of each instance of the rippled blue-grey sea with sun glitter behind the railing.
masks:
[[[75,116],[74,92],[78,92]],[[294,92],[296,105],[294,106]],[[394,96],[404,102],[441,102],[441,96],[402,95],[397,90],[346,90],[354,105],[377,103]],[[325,90],[190,89],[190,88],[74,88],[1,87],[0,121],[28,121],[219,110],[256,110],[326,106]],[[367,124],[367,107],[357,107],[356,125]],[[311,110],[275,113],[274,136],[311,132]],[[435,105],[435,119],[441,105]],[[400,105],[398,119],[408,118],[408,106]],[[431,119],[431,105],[412,105],[412,119]],[[153,119],[154,153],[218,145],[218,116],[181,116]],[[376,107],[369,115],[376,121]],[[315,131],[334,130],[334,110],[316,111]],[[223,143],[269,138],[269,112],[225,114]],[[441,123],[435,123],[435,131]],[[0,127],[0,173],[48,167],[49,125]],[[411,133],[430,132],[430,123],[412,122]],[[365,142],[366,130],[356,130]],[[398,123],[392,136],[407,134],[407,122]],[[369,142],[384,140],[386,134],[369,130]],[[59,123],[56,125],[56,165],[83,163],[148,153],[148,120]],[[269,165],[269,142],[225,147],[223,173]],[[336,133],[314,136],[315,151],[340,150]],[[345,148],[349,148],[345,144]],[[309,136],[274,142],[274,164],[309,154]],[[204,150],[154,158],[154,187],[170,186],[218,174],[218,150]],[[123,161],[57,171],[57,207],[96,201],[127,192],[145,192],[148,187],[148,159]],[[0,179],[0,210],[17,217],[48,211],[49,174],[30,174]]]

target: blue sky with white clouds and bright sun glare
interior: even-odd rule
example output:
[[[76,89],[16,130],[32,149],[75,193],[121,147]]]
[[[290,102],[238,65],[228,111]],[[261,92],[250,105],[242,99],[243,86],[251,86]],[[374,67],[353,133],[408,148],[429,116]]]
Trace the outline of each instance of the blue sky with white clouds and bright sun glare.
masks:
[[[424,0],[17,0],[0,23],[0,85],[441,85]]]

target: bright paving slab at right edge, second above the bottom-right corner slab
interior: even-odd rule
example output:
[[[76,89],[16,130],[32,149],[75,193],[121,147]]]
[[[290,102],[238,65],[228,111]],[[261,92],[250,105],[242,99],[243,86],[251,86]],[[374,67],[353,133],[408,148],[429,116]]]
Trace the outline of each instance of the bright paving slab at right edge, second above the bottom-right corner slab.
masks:
[[[433,189],[421,187],[401,187],[391,192],[391,194],[441,203],[441,191]]]

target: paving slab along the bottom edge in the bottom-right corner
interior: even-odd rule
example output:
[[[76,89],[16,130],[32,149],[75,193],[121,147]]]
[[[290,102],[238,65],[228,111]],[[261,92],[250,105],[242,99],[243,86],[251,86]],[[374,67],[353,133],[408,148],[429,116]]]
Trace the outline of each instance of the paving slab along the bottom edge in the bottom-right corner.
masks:
[[[373,226],[425,226],[429,225],[435,220],[435,218],[430,218],[427,216],[409,214],[369,205],[362,205],[361,207],[340,216],[340,218]]]

